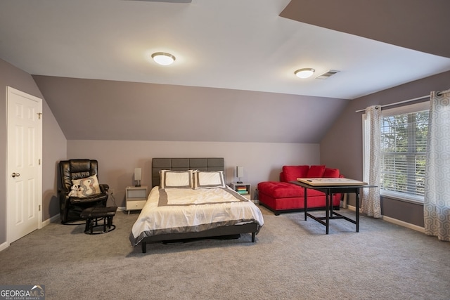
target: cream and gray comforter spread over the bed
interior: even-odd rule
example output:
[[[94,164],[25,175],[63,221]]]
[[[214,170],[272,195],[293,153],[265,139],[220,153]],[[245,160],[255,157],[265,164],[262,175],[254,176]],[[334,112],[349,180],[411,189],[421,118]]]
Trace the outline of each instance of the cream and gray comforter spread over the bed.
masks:
[[[253,202],[229,187],[194,190],[156,186],[131,229],[130,241],[136,245],[152,235],[197,232],[243,223],[257,223],[259,231],[264,219]]]

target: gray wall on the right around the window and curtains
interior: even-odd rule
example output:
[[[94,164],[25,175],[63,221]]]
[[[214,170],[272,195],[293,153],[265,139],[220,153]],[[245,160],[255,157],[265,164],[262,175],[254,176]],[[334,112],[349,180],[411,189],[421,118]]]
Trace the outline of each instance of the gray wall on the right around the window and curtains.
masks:
[[[412,81],[392,89],[354,99],[321,141],[321,163],[339,168],[345,176],[362,180],[362,110],[369,105],[385,105],[430,95],[430,91],[450,88],[450,72]],[[354,199],[349,203],[354,205]],[[382,214],[423,226],[423,205],[382,197]]]

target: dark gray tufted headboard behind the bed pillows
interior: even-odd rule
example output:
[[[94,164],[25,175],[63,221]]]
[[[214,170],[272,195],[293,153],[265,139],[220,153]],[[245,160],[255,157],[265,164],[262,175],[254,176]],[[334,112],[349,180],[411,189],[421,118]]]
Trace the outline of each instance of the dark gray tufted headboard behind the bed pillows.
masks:
[[[152,188],[160,185],[160,170],[186,171],[225,171],[223,157],[200,158],[153,158]]]

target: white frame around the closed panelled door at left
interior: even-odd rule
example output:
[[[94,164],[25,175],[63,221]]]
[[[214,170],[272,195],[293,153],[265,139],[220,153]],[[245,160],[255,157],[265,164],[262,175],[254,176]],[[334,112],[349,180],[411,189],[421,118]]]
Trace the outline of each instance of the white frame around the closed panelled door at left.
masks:
[[[9,146],[8,145],[8,133],[9,133],[9,126],[11,126],[10,124],[10,120],[8,119],[8,109],[10,106],[10,95],[11,94],[17,94],[19,96],[28,98],[32,101],[36,101],[39,105],[39,119],[42,119],[42,99],[38,98],[36,96],[32,96],[28,93],[25,93],[23,91],[19,91],[18,89],[14,89],[11,86],[6,86],[6,244],[9,246],[9,244],[11,244],[10,240],[11,240],[11,228],[10,226],[8,226],[8,215],[9,215],[9,207],[11,206],[11,200],[8,199],[8,195],[9,195],[9,176],[11,174],[11,172],[13,170],[9,169],[9,164],[8,164],[8,153],[9,153]],[[37,229],[41,229],[42,228],[42,212],[44,211],[43,207],[42,207],[42,122],[38,122],[37,125],[37,131],[38,131],[38,138],[37,138],[37,157],[39,159],[39,164],[38,164],[38,174],[37,174],[37,204],[38,204],[38,212],[37,212],[37,216],[38,216],[38,221],[37,221]]]

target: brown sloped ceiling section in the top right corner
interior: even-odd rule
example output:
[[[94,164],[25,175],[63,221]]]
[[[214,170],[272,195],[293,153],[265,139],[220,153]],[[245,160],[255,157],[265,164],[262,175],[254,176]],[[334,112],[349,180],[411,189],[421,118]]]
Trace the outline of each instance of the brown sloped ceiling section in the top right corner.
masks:
[[[292,0],[280,15],[450,58],[449,11],[447,0]]]

